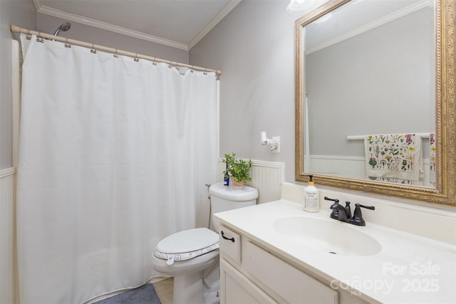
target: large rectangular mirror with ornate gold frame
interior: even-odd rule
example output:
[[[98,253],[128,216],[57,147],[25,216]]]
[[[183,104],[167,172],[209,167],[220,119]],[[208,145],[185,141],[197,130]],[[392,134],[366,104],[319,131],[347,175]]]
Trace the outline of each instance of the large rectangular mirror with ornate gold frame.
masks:
[[[454,6],[330,0],[296,21],[296,181],[456,204]]]

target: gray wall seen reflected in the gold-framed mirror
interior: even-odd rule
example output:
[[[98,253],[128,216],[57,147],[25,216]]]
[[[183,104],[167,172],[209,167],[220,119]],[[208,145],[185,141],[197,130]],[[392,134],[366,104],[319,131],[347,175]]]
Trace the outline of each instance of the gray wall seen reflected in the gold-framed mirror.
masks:
[[[435,132],[434,9],[306,55],[310,154],[364,156],[347,135]]]

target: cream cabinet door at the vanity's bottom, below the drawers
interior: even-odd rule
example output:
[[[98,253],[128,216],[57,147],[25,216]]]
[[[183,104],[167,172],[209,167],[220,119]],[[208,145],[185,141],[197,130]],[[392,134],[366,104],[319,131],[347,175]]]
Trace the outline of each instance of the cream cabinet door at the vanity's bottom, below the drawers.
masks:
[[[277,303],[223,258],[220,259],[220,304]]]

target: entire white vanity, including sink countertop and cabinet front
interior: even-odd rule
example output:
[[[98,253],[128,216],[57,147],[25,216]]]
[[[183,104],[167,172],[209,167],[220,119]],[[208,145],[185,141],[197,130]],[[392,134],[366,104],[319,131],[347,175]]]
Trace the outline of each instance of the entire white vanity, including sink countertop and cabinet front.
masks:
[[[382,226],[346,227],[329,216],[323,210],[306,213],[302,204],[286,200],[214,214],[221,225],[221,303],[456,303],[454,245]],[[311,227],[291,224],[281,230],[284,222],[304,221]],[[333,229],[336,239],[299,239],[318,229]],[[361,233],[380,250],[331,250],[339,237],[351,248]],[[398,267],[402,273],[393,271]],[[425,288],[429,281],[436,283],[432,292]]]

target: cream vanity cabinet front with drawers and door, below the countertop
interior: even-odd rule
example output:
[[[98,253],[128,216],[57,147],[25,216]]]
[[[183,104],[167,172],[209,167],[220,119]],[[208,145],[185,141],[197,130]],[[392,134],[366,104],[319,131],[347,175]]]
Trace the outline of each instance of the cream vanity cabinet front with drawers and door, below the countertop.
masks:
[[[220,229],[220,285],[221,304],[339,303],[338,290],[227,226]]]

